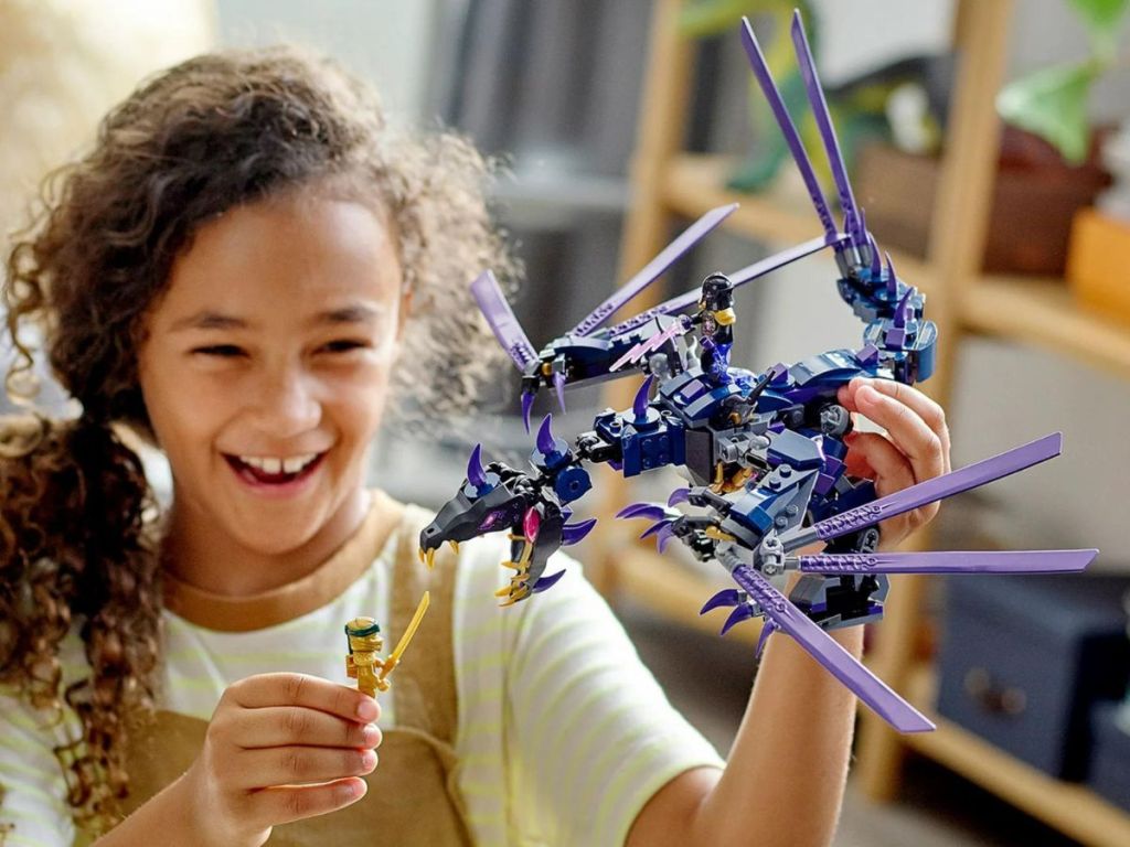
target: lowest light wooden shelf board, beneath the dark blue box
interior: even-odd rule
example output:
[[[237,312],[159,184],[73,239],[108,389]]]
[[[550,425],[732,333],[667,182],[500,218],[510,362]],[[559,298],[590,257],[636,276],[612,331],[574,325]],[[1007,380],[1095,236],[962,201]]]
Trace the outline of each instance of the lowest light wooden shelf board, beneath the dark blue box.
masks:
[[[1093,847],[1130,844],[1130,815],[1079,783],[1054,779],[933,711],[933,669],[915,669],[909,699],[938,724],[935,732],[904,735],[907,746],[1007,800],[1060,832]]]

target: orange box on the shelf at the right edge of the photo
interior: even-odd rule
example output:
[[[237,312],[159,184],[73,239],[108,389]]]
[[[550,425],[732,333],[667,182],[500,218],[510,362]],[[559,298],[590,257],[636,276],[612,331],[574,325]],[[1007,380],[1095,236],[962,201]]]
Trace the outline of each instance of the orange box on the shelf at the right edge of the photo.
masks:
[[[1094,207],[1076,212],[1067,278],[1080,306],[1130,323],[1130,222]]]

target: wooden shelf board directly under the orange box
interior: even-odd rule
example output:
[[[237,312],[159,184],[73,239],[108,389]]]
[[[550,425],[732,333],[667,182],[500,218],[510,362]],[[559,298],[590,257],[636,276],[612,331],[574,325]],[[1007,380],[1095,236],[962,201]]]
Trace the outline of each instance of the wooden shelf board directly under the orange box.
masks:
[[[1086,312],[1062,280],[984,277],[970,286],[959,320],[968,329],[1130,377],[1130,331]]]

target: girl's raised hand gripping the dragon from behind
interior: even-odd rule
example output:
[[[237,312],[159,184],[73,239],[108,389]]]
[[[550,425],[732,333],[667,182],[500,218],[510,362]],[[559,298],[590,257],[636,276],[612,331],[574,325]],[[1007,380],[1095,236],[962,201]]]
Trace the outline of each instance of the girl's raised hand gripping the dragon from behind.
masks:
[[[840,388],[847,411],[883,427],[879,433],[853,431],[847,445],[847,473],[875,481],[879,497],[949,473],[949,428],[941,407],[910,385],[892,379],[852,379]],[[931,503],[884,521],[880,547],[892,549],[938,514]]]

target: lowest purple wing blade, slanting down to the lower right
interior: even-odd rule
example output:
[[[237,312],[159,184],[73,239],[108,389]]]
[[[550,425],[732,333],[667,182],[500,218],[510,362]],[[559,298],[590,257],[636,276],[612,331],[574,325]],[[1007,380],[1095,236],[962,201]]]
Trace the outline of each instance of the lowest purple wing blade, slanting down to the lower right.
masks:
[[[899,732],[929,732],[935,726],[924,715],[867,670],[832,636],[806,618],[765,577],[746,565],[733,569],[733,578],[746,590],[762,612],[783,632],[792,636],[817,662],[851,689],[879,717]]]

